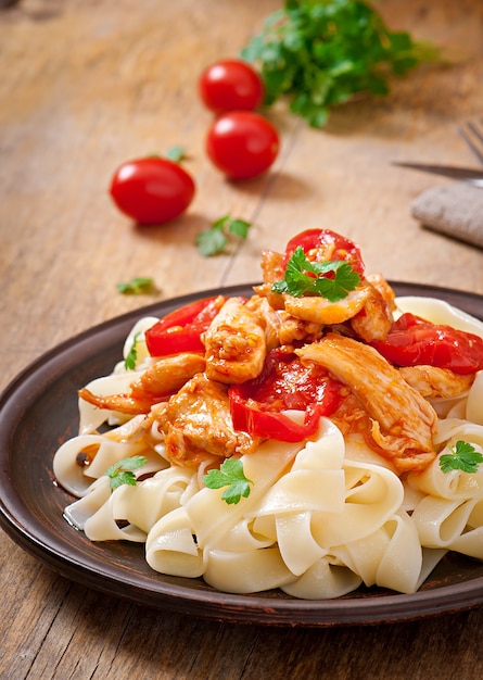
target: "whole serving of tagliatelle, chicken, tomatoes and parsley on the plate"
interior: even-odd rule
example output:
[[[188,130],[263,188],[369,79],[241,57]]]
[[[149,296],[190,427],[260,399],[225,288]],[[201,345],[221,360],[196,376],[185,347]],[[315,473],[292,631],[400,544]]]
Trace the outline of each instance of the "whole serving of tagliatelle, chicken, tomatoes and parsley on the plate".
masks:
[[[232,593],[412,593],[448,551],[483,559],[483,323],[395,297],[329,229],[262,272],[140,318],[81,387],[68,521]]]

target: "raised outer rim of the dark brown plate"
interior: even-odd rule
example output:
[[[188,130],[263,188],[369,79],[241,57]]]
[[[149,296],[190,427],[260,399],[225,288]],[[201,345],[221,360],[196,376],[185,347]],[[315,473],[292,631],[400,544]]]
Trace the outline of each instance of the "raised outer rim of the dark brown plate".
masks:
[[[469,303],[471,307],[481,306],[480,316],[474,312],[474,308],[470,313],[483,320],[483,295],[425,284],[391,280],[389,282],[398,297],[410,294],[436,297],[450,302],[450,304],[457,304],[457,306],[458,302],[459,304]],[[41,376],[46,380],[48,378],[46,374],[52,363],[55,365],[60,363],[58,370],[62,372],[62,366],[66,362],[68,363],[68,355],[75,348],[93,351],[98,345],[107,347],[105,345],[107,339],[111,350],[114,350],[116,344],[122,348],[127,330],[142,316],[154,316],[160,312],[166,314],[170,308],[213,294],[246,294],[255,285],[239,284],[213,288],[153,302],[101,322],[67,338],[24,367],[0,394],[0,465],[2,473],[0,477],[0,527],[23,550],[69,580],[143,606],[174,613],[189,613],[198,617],[220,621],[290,627],[383,624],[415,620],[468,609],[482,604],[483,577],[410,594],[394,593],[358,599],[345,596],[325,601],[285,599],[285,596],[283,599],[270,597],[263,593],[239,595],[221,593],[214,589],[199,590],[190,588],[191,579],[185,579],[187,585],[166,584],[162,581],[162,587],[153,590],[153,588],[147,587],[145,579],[137,579],[130,575],[130,580],[126,582],[119,578],[113,578],[115,571],[113,569],[94,569],[94,565],[99,566],[96,559],[86,563],[79,558],[78,554],[73,555],[72,552],[66,554],[65,550],[62,552],[65,544],[61,539],[59,545],[55,541],[53,543],[46,542],[46,531],[41,522],[35,517],[33,518],[28,508],[24,506],[10,468],[13,430],[27,413],[34,396],[37,396],[36,394],[30,395],[30,401],[27,400],[23,407],[18,407],[15,403],[15,396],[18,393],[23,394],[25,381],[35,376]],[[115,339],[112,336],[115,336]],[[93,344],[92,340],[94,340]],[[85,348],[86,344],[89,348]],[[4,412],[14,416],[13,421],[2,417]],[[18,512],[18,504],[22,512]],[[60,520],[65,521],[62,517]],[[73,531],[75,530],[73,529]],[[102,567],[102,565],[100,566]],[[160,575],[153,571],[152,580],[157,578]],[[125,587],[123,592],[119,592],[119,584]]]

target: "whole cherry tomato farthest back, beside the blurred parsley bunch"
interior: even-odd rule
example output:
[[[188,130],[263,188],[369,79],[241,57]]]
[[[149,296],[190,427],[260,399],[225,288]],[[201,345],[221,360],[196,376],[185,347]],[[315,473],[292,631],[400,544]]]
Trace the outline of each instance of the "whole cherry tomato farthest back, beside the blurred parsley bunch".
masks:
[[[239,59],[208,66],[199,80],[200,97],[215,113],[253,111],[264,99],[264,85],[256,71]]]

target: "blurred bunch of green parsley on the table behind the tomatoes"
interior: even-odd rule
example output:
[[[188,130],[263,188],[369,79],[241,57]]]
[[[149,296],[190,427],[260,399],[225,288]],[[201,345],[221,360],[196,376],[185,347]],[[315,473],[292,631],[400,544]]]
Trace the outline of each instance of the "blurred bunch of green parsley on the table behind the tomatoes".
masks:
[[[242,50],[265,83],[266,105],[288,97],[293,113],[322,127],[329,111],[355,96],[384,96],[440,51],[392,32],[365,0],[285,0]]]

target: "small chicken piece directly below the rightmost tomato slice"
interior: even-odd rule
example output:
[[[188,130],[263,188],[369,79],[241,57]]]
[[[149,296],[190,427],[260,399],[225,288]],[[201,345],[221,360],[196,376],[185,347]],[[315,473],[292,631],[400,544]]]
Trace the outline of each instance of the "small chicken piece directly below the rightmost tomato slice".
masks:
[[[427,399],[453,399],[468,392],[474,374],[459,375],[436,366],[404,366],[399,374]]]

